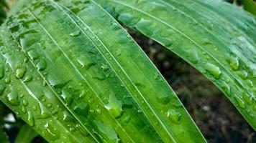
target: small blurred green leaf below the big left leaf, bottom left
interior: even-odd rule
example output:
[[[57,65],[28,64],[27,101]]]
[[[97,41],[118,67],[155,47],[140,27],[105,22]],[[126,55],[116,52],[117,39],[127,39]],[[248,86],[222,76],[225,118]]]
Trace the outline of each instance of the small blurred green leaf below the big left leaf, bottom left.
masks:
[[[19,129],[19,133],[15,139],[15,143],[29,143],[32,142],[32,140],[37,137],[37,132],[32,129],[32,127],[29,127],[29,125],[24,124],[21,129]]]

